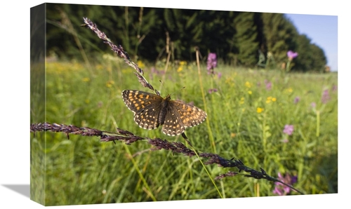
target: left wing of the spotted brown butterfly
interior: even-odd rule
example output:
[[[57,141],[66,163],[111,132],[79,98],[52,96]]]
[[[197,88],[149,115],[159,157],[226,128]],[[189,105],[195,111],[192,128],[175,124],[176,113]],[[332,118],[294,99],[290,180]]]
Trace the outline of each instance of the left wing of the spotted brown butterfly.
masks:
[[[126,106],[134,112],[134,121],[140,128],[159,127],[162,97],[140,90],[124,90],[122,97]]]

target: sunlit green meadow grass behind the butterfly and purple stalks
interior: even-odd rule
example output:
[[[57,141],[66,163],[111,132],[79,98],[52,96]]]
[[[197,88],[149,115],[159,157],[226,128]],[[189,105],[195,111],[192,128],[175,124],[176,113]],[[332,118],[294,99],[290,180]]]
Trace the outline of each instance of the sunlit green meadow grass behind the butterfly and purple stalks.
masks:
[[[121,59],[97,62],[90,69],[71,62],[46,65],[48,123],[107,131],[119,127],[135,135],[185,143],[182,137],[162,134],[160,128],[139,128],[121,99],[121,91],[147,89]],[[180,72],[179,66],[172,66],[165,76],[152,77],[151,66],[140,66],[162,96],[172,93],[173,99],[194,102],[201,109],[206,102],[208,122],[186,130],[195,149],[240,159],[273,177],[278,172],[298,175],[293,186],[305,194],[338,192],[338,93],[332,90],[338,85],[337,74],[283,76],[276,71],[220,65],[215,69],[222,73],[219,79],[201,66],[204,101],[196,65],[183,65]],[[265,80],[272,82],[271,90],[265,88]],[[218,92],[209,94],[210,88]],[[323,104],[325,89],[330,99]],[[296,104],[295,97],[300,97]],[[32,105],[31,123],[44,122],[35,117],[42,111],[33,108],[37,106]],[[258,113],[259,109],[263,111]],[[286,124],[294,126],[293,135],[284,135]],[[211,146],[211,137],[215,147]],[[289,142],[282,142],[284,139]],[[114,144],[80,135],[69,135],[67,140],[63,133],[41,132],[35,137],[31,134],[31,149],[31,196],[41,196],[38,190],[45,188],[45,205],[220,198],[197,157],[150,151],[147,142]],[[206,169],[212,178],[228,170],[237,171],[216,165]],[[216,185],[225,198],[274,195],[273,182],[242,175],[218,180]]]

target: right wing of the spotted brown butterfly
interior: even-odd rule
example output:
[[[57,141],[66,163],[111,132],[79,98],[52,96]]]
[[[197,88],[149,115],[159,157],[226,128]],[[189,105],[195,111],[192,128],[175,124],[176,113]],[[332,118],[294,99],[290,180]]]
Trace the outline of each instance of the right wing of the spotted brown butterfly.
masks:
[[[197,126],[202,123],[207,114],[204,110],[192,104],[186,104],[180,100],[171,100],[164,119],[162,132],[166,135],[180,135],[185,128]]]

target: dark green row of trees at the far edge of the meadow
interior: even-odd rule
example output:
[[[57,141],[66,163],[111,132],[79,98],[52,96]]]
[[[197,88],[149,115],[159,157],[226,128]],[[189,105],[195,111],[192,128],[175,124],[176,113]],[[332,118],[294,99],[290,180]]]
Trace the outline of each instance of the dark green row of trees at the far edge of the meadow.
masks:
[[[288,50],[298,52],[292,71],[319,71],[326,56],[305,34],[298,34],[282,13],[205,11],[79,4],[46,4],[46,52],[80,59],[81,49],[91,57],[108,52],[90,30],[80,27],[91,19],[131,58],[154,62],[171,52],[171,59],[195,60],[216,53],[227,65],[279,68]],[[93,43],[93,44],[92,44]]]

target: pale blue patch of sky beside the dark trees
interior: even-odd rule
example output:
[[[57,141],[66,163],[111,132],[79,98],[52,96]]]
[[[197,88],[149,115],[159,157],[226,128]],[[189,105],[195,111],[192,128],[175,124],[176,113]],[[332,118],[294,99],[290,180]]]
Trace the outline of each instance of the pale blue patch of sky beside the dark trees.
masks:
[[[324,50],[327,65],[338,70],[338,16],[286,14],[299,34],[306,34],[311,42]]]

